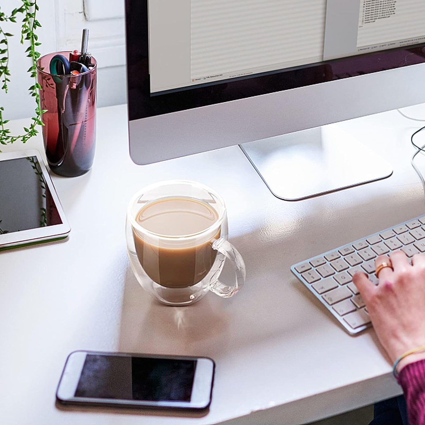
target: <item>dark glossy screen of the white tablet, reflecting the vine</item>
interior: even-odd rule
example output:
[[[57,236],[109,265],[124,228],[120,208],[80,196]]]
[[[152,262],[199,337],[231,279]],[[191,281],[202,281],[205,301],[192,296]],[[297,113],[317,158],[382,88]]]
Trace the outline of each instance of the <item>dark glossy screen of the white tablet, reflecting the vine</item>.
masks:
[[[62,224],[36,156],[0,161],[0,234]]]

